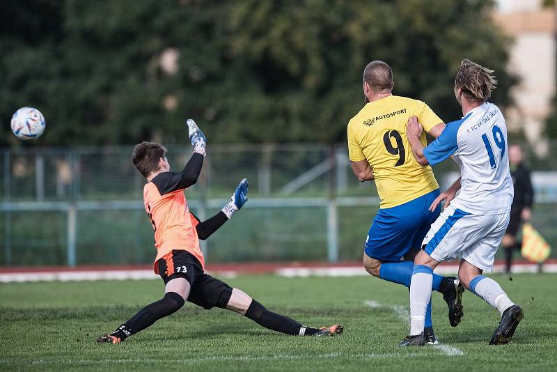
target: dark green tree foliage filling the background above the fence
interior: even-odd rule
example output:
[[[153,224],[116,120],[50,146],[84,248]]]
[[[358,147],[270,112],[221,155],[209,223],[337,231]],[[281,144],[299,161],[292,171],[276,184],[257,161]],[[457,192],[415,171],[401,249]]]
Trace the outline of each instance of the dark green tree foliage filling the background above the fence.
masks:
[[[1,144],[35,106],[42,144],[183,143],[186,117],[210,142],[345,139],[366,63],[394,70],[395,94],[460,118],[456,69],[496,70],[510,104],[508,40],[481,0],[26,0],[0,3]],[[178,71],[159,63],[178,52]],[[165,103],[166,102],[166,103]]]

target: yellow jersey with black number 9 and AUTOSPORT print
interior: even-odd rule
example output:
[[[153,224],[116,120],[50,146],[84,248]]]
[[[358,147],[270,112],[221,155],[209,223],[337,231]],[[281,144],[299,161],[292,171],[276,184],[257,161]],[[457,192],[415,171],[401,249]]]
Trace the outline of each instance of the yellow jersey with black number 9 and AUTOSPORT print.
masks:
[[[348,123],[348,156],[372,167],[379,208],[400,206],[439,188],[431,167],[421,166],[412,155],[406,137],[410,116],[418,116],[426,132],[443,122],[424,102],[389,95],[366,104]],[[427,145],[425,134],[421,142]]]

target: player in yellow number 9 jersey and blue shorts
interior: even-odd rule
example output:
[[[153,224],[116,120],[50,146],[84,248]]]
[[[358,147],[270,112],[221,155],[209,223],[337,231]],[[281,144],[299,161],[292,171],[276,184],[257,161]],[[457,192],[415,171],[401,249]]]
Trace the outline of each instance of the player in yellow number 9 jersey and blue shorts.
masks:
[[[366,105],[348,123],[348,155],[361,182],[375,180],[380,199],[364,245],[363,265],[375,277],[409,287],[414,256],[439,217],[441,206],[430,210],[439,197],[439,185],[431,167],[414,160],[406,137],[407,122],[410,116],[418,116],[424,130],[436,138],[445,124],[424,102],[393,95],[393,86],[393,71],[388,64],[372,61],[366,66]],[[425,134],[421,141],[425,146]],[[443,293],[450,325],[455,327],[462,317],[462,285],[455,278],[434,274],[432,288]],[[437,343],[431,302],[425,339],[426,343]]]

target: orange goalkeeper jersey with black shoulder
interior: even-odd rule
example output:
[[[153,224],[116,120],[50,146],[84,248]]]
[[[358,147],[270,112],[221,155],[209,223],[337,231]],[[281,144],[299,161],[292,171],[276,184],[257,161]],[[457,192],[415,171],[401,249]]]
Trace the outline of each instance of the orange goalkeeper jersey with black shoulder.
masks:
[[[196,231],[198,221],[189,212],[181,177],[177,172],[159,173],[143,187],[143,203],[155,230],[157,274],[157,261],[173,250],[189,251],[205,268]]]

